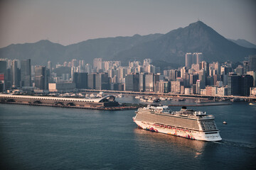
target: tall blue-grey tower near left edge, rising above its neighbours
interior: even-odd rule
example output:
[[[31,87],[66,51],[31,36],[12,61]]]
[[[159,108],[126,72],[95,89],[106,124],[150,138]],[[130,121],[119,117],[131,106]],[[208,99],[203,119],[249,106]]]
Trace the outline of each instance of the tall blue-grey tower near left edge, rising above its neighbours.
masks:
[[[21,60],[21,86],[31,85],[31,60]]]

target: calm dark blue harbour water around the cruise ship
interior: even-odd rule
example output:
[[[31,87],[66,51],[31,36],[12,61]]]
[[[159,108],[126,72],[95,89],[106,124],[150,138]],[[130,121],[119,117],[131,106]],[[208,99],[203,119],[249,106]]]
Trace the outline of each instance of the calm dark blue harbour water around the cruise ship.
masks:
[[[0,104],[1,169],[256,168],[256,106],[190,108],[215,115],[221,142],[138,129],[134,111]]]

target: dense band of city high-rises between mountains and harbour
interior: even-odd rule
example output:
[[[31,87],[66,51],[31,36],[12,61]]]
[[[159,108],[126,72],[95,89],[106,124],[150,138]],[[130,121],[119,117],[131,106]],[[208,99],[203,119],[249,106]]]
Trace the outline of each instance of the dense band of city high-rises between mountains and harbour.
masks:
[[[33,66],[31,59],[0,60],[0,91],[12,94],[63,94],[86,90],[134,91],[151,94],[201,96],[256,96],[256,55],[240,64],[208,63],[202,52],[187,52],[186,66],[161,70],[151,59],[120,61],[95,58],[47,66]],[[245,58],[246,59],[246,58]],[[138,94],[138,93],[137,93]]]

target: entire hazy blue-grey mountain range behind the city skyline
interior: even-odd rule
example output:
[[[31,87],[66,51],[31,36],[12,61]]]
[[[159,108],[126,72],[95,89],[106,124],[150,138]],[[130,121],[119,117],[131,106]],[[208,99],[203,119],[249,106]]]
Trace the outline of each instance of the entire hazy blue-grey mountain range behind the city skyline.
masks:
[[[56,64],[77,59],[92,64],[94,58],[101,57],[127,64],[129,60],[151,58],[157,67],[178,67],[184,65],[186,52],[203,52],[207,62],[240,62],[248,55],[255,55],[256,48],[242,47],[198,21],[166,34],[97,38],[67,46],[48,40],[9,45],[0,48],[0,57],[31,58],[32,64],[43,65],[48,60]]]

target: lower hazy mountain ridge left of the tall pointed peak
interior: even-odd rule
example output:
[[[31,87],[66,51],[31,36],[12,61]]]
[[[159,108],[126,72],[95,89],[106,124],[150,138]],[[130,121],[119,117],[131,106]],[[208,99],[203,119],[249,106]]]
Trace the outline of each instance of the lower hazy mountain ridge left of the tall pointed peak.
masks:
[[[127,50],[143,42],[155,40],[159,36],[161,34],[97,38],[67,46],[53,43],[49,40],[41,40],[35,43],[13,44],[0,48],[0,57],[18,60],[31,58],[33,64],[43,65],[46,65],[49,60],[56,64],[72,59],[85,60],[87,63],[92,63],[94,58],[99,57],[103,60],[110,60],[122,50]]]

